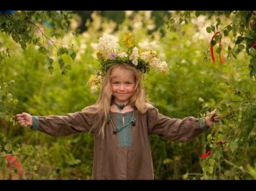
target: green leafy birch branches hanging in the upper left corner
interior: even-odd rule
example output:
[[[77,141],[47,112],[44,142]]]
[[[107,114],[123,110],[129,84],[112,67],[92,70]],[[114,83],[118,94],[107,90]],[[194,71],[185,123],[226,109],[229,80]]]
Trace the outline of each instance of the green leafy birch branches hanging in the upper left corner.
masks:
[[[1,13],[0,14],[0,26],[1,32],[10,36],[15,43],[19,44],[23,50],[27,49],[28,44],[34,44],[39,46],[38,51],[42,53],[46,59],[45,64],[49,65],[49,71],[52,72],[52,59],[53,51],[48,48],[48,41],[52,43],[57,49],[57,56],[59,60],[62,54],[69,55],[73,60],[76,57],[73,51],[73,45],[62,44],[50,39],[50,37],[56,37],[56,39],[63,38],[65,32],[69,32],[69,20],[71,19],[71,11],[15,11],[14,14]],[[46,27],[47,26],[47,27]],[[2,46],[2,42],[0,42]],[[69,49],[61,47],[57,48],[56,44],[69,46]],[[1,51],[0,61],[5,62],[5,57],[10,57],[10,49],[6,46],[6,49]],[[61,73],[67,73],[67,67],[65,63],[61,62]]]

